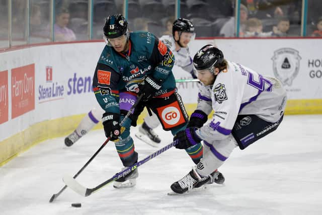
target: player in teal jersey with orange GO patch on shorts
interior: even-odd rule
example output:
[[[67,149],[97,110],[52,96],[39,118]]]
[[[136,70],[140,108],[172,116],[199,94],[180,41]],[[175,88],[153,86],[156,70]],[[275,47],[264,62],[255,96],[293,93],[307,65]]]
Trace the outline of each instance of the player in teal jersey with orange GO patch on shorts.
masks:
[[[105,113],[102,122],[105,135],[115,142],[116,150],[124,165],[137,162],[137,152],[130,136],[130,126],[136,126],[143,108],[153,111],[165,130],[173,134],[183,130],[188,122],[180,95],[176,92],[172,73],[174,55],[171,50],[149,32],[129,32],[122,15],[107,17],[104,26],[107,45],[98,61],[93,89]],[[143,95],[134,112],[120,127],[120,121]],[[186,149],[194,163],[203,155],[202,145]],[[217,172],[216,172],[217,173]],[[137,170],[115,181],[114,187],[135,185]]]

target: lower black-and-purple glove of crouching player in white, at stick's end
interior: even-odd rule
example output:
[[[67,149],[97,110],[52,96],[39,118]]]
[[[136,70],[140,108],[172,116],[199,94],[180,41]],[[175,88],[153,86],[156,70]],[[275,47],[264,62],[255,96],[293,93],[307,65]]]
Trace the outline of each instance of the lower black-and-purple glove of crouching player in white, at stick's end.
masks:
[[[185,130],[179,131],[174,137],[173,141],[178,140],[178,144],[176,145],[177,149],[187,149],[191,146],[199,144],[202,140],[195,132],[195,128],[186,128]]]

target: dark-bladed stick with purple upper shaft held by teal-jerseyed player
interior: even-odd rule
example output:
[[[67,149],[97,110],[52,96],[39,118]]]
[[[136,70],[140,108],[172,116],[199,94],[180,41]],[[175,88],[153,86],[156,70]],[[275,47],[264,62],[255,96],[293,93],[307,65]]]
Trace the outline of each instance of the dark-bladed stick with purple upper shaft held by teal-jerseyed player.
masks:
[[[143,95],[140,95],[136,102],[133,104],[133,106],[130,108],[130,110],[127,112],[127,114],[125,115],[125,117],[123,118],[123,120],[120,122],[120,126],[123,125],[123,123],[125,122],[125,120],[130,116],[130,114],[132,113],[132,111],[134,110],[134,108],[137,106],[137,104],[139,103],[139,101],[141,100],[141,98],[143,97]],[[99,154],[99,152],[101,152],[101,150],[105,147],[105,145],[107,144],[107,142],[110,140],[111,137],[108,137],[105,142],[103,143],[103,145],[96,151],[96,153],[90,158],[90,160],[88,160],[88,162],[82,167],[82,169],[80,169],[73,178],[77,178],[77,176],[83,172],[83,170],[92,162],[92,160],[97,156],[97,154]],[[53,200],[55,200],[65,189],[66,189],[66,185],[58,192],[55,193],[51,196],[51,198],[49,199],[49,202],[52,202]]]

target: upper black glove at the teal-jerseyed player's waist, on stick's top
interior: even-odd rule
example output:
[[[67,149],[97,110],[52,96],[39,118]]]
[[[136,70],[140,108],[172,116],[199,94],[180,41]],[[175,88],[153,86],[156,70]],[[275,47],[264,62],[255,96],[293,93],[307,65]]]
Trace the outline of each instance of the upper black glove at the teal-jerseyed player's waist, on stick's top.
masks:
[[[157,81],[151,76],[146,76],[144,82],[139,85],[139,95],[143,94],[143,101],[151,99],[154,93],[161,88],[162,81]]]

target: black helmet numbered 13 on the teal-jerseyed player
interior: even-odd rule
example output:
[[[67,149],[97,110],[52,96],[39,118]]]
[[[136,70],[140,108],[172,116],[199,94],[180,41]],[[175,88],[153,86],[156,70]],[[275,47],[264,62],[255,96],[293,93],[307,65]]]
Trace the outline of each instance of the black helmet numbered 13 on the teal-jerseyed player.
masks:
[[[127,21],[121,14],[110,15],[106,18],[103,28],[107,39],[116,38],[127,33]]]

